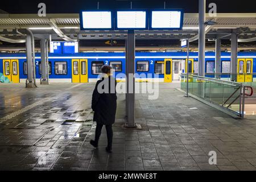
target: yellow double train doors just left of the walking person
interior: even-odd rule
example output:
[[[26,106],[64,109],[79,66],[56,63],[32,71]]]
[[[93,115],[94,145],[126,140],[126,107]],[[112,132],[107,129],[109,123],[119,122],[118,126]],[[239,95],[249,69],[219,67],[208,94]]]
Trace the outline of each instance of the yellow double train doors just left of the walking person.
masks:
[[[72,82],[88,82],[88,61],[86,59],[72,59]]]

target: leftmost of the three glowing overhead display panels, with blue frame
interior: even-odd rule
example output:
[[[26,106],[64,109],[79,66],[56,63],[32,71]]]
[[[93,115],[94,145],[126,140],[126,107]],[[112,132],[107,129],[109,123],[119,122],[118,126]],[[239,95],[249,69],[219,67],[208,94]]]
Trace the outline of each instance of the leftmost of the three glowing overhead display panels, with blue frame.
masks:
[[[81,30],[111,30],[113,28],[111,11],[82,11]]]

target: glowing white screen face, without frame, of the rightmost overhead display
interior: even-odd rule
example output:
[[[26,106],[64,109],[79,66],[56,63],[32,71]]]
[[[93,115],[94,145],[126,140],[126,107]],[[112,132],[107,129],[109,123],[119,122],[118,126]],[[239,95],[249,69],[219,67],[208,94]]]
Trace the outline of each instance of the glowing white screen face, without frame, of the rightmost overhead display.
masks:
[[[152,11],[152,28],[180,28],[180,11]]]

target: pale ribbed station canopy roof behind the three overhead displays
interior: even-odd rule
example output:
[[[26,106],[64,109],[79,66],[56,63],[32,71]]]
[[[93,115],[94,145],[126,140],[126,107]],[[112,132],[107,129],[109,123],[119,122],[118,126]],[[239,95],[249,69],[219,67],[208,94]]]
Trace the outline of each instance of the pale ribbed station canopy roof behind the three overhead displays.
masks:
[[[187,39],[197,40],[199,35],[197,13],[185,13],[181,30],[135,30],[136,39]],[[217,17],[206,14],[207,39],[230,39],[236,31],[238,42],[256,40],[256,13],[220,13]],[[79,14],[0,14],[0,40],[24,42],[26,28],[34,33],[36,39],[48,38],[76,42],[78,39],[126,39],[127,30],[80,30]]]

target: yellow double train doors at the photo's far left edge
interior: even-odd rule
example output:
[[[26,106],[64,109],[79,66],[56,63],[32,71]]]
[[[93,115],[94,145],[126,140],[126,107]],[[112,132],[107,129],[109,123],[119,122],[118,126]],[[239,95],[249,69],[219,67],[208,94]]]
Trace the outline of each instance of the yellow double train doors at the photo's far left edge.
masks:
[[[3,60],[3,75],[14,83],[19,83],[19,60]]]

